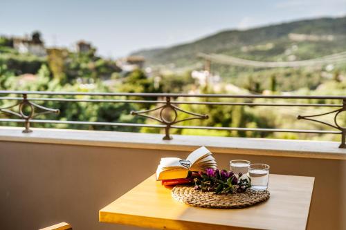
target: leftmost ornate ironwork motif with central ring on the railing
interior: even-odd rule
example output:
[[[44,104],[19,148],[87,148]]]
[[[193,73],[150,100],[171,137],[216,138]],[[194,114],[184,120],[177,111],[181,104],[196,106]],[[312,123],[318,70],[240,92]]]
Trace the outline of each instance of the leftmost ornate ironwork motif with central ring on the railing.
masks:
[[[16,106],[18,106],[18,112],[10,110],[10,108],[15,108]],[[28,106],[30,108],[28,114],[26,114],[24,112],[24,109],[26,106]],[[43,110],[44,112],[35,113],[35,108],[39,108],[39,109]],[[46,108],[46,107],[40,106],[34,102],[30,102],[28,99],[28,95],[26,95],[26,94],[23,94],[23,99],[21,99],[21,102],[18,102],[17,104],[14,104],[12,106],[0,108],[0,112],[7,113],[9,115],[15,115],[17,117],[20,117],[21,119],[24,119],[25,129],[24,129],[23,133],[33,132],[30,129],[30,119],[38,117],[39,115],[44,115],[44,114],[49,114],[49,113],[60,113],[59,109]]]

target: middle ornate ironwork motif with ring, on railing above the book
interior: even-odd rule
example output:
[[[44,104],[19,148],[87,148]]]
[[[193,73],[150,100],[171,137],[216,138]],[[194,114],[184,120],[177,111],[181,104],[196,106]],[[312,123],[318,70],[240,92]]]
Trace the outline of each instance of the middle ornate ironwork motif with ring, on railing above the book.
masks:
[[[138,115],[141,117],[147,117],[149,119],[154,119],[157,122],[160,122],[161,124],[165,125],[165,136],[163,137],[163,140],[172,140],[172,136],[170,135],[170,128],[172,128],[172,125],[179,123],[179,122],[184,122],[184,121],[188,121],[191,119],[208,119],[208,115],[202,115],[202,114],[198,114],[198,113],[192,113],[190,111],[185,111],[177,106],[174,106],[174,104],[171,103],[171,98],[170,97],[165,97],[166,101],[165,104],[163,106],[158,106],[156,108],[151,108],[145,111],[131,111],[131,115]],[[163,115],[163,111],[165,111],[165,109],[171,109],[173,111],[173,119],[171,120],[167,120],[165,119],[164,115]],[[159,117],[154,117],[152,115],[147,115],[145,113],[150,113],[153,111],[160,111],[159,112]],[[178,111],[181,111],[183,113],[187,113],[189,115],[192,115],[194,117],[188,117],[185,119],[178,119]]]

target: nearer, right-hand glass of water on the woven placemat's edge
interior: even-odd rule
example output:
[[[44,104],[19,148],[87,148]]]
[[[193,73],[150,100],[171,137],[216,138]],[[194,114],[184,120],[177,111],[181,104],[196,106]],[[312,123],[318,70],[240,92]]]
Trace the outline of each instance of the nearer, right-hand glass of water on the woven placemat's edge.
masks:
[[[251,164],[248,166],[251,189],[257,191],[268,189],[269,168],[268,164]]]

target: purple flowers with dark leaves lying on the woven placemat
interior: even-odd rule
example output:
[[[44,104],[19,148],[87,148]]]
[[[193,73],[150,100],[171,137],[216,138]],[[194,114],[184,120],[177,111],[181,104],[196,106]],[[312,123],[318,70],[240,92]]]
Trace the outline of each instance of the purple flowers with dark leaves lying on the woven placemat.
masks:
[[[194,189],[201,191],[213,191],[221,193],[244,193],[251,187],[251,179],[242,178],[242,173],[238,177],[232,171],[219,169],[206,169],[206,172],[199,172],[194,178]]]

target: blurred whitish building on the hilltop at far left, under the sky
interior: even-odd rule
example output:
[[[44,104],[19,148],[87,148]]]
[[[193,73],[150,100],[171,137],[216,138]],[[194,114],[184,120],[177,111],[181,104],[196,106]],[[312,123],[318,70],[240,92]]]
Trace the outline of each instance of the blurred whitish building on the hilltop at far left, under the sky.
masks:
[[[47,55],[44,42],[40,39],[38,33],[34,33],[31,38],[13,38],[13,48],[20,53],[30,53],[39,57]]]

